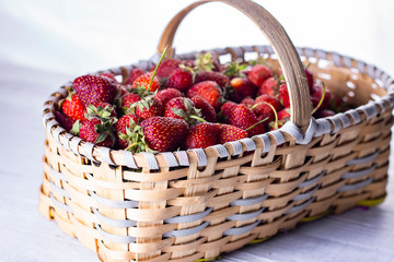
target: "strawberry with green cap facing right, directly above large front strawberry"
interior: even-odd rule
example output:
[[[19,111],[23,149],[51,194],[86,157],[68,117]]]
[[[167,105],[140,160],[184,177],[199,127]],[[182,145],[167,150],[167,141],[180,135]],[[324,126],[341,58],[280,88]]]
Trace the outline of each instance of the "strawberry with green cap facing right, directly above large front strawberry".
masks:
[[[166,104],[164,117],[184,119],[187,123],[195,124],[201,120],[201,111],[195,108],[194,103],[189,98],[175,97]]]

